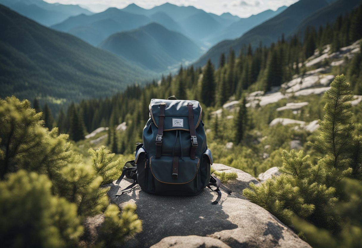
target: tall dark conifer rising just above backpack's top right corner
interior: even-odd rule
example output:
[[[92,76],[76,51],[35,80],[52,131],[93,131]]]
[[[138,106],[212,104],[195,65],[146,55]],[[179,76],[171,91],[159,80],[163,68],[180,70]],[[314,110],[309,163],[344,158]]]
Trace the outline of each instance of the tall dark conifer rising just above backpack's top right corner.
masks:
[[[203,69],[203,77],[201,82],[201,102],[206,106],[214,104],[215,96],[215,78],[214,66],[209,59],[206,67]]]

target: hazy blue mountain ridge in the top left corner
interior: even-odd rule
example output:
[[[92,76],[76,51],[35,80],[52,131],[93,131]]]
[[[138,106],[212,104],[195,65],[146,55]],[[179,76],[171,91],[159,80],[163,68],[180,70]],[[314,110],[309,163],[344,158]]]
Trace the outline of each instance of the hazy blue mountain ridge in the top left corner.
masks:
[[[44,26],[62,22],[70,16],[93,14],[79,5],[50,4],[43,0],[0,0],[0,4]]]

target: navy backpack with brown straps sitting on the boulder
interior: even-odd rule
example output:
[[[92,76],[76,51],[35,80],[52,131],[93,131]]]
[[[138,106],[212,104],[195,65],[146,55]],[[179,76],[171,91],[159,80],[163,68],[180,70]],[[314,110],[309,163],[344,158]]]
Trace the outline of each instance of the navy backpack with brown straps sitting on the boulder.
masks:
[[[231,190],[210,175],[212,155],[207,149],[200,103],[170,98],[151,100],[143,143],[137,144],[135,160],[126,162],[116,185],[125,176],[134,183],[116,195],[129,192],[136,184],[157,195],[197,195],[208,187],[218,193],[212,202],[217,204],[220,188],[229,194]]]

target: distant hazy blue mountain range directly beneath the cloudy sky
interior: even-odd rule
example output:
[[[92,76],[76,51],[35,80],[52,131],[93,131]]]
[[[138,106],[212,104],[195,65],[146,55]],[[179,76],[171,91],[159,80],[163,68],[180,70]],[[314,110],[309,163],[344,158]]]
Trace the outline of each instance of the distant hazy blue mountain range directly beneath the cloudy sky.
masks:
[[[90,16],[70,17],[62,23],[53,25],[52,28],[71,33],[97,46],[114,33],[157,22],[171,31],[189,37],[197,45],[206,49],[219,40],[241,36],[246,30],[277,15],[282,9],[275,12],[262,12],[252,16],[248,21],[249,18],[239,18],[230,13],[218,16],[192,6],[184,7],[165,3],[152,9],[144,9],[136,4],[130,4],[123,9],[109,8]],[[245,21],[241,23],[243,28],[235,28],[235,26],[228,28],[239,20]],[[229,31],[224,33],[224,29]]]

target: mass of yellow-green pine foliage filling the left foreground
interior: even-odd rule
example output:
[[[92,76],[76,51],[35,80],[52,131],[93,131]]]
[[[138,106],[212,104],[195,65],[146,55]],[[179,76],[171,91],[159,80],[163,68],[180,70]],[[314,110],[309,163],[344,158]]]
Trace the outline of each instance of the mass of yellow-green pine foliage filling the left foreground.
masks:
[[[0,239],[5,247],[77,247],[83,221],[109,206],[109,188],[101,184],[119,173],[120,161],[108,149],[90,151],[93,164],[85,164],[68,135],[59,135],[58,128],[49,131],[41,118],[28,100],[0,99]],[[109,232],[118,243],[141,230],[135,206],[125,207],[117,218],[112,212],[119,210],[111,210],[102,225],[122,229],[122,236],[114,228]]]

